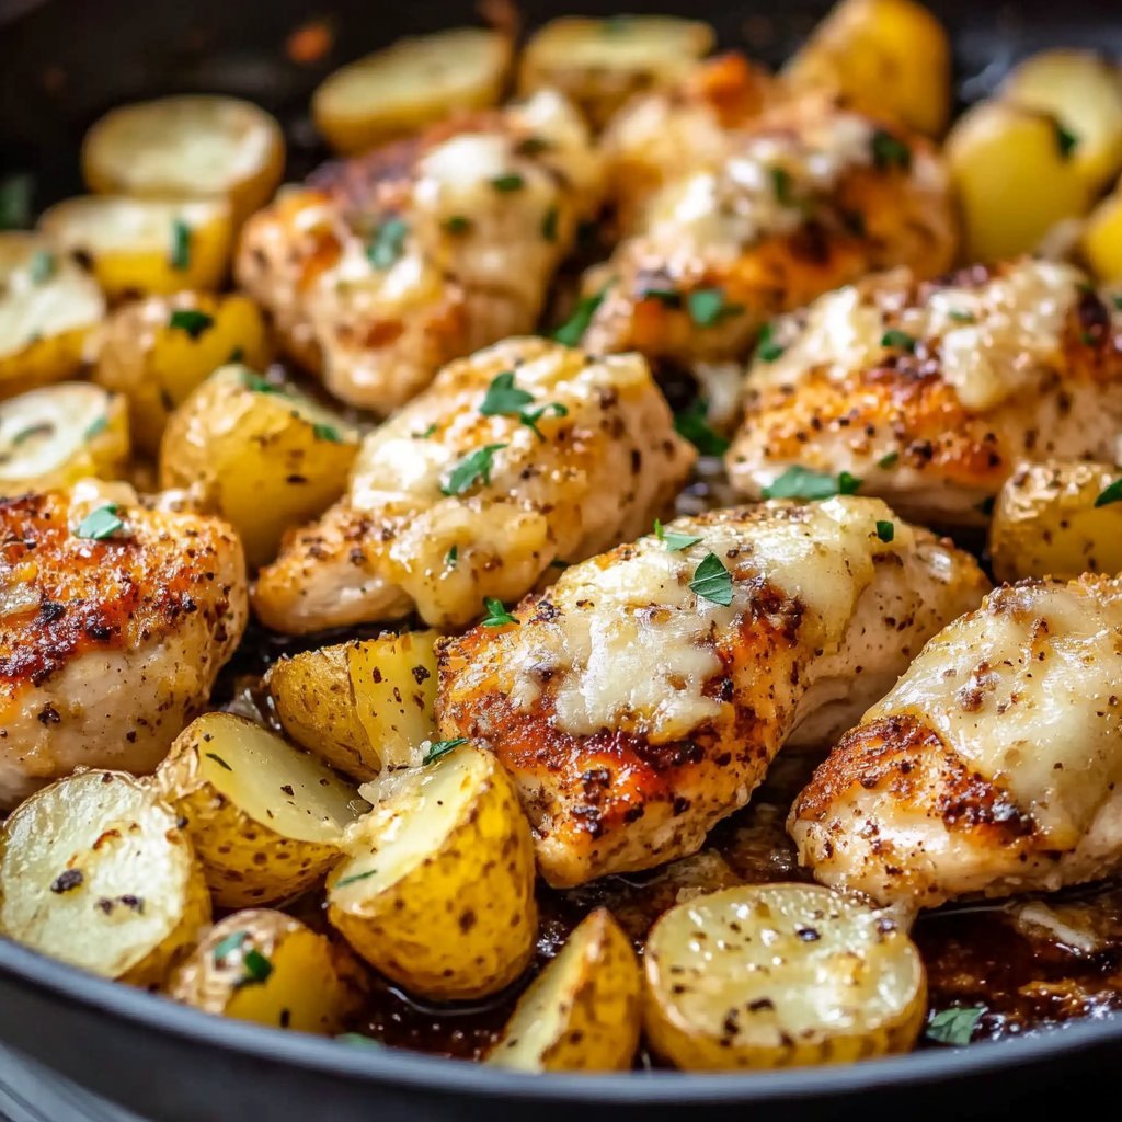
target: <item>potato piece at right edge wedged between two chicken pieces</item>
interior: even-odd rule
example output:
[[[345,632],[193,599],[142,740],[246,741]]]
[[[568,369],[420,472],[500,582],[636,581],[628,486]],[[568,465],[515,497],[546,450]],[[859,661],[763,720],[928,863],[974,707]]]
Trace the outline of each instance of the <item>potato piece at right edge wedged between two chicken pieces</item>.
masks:
[[[1122,572],[1122,468],[1022,465],[997,495],[990,553],[999,580]]]

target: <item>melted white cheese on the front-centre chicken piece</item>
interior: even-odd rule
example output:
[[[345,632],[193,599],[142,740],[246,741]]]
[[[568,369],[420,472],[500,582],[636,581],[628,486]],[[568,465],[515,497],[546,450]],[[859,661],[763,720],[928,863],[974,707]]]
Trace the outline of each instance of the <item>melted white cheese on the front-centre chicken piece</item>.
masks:
[[[701,537],[687,550],[671,552],[649,536],[608,564],[592,559],[567,570],[550,594],[558,615],[535,624],[509,664],[512,700],[532,709],[548,678],[554,723],[565,733],[610,728],[655,743],[682,739],[732,709],[706,696],[706,686],[721,672],[718,647],[752,613],[754,578],[802,605],[800,643],[830,651],[873,580],[874,558],[914,545],[900,523],[891,544],[880,541],[876,522],[893,516],[877,499],[774,504],[761,515],[680,518],[668,531]],[[689,587],[710,552],[734,574],[727,607]]]

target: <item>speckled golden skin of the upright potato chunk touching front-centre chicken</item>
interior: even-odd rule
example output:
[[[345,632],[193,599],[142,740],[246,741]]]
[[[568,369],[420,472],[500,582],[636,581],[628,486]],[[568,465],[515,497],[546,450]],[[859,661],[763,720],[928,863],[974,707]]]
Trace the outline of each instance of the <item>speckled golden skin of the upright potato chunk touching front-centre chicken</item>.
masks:
[[[448,766],[461,752],[478,757],[468,765],[470,803],[420,864],[365,899],[339,886],[350,862],[328,877],[331,923],[376,969],[435,1001],[509,985],[530,963],[537,934],[534,849],[517,792],[498,761],[473,747],[430,766]],[[365,840],[377,838],[375,821]]]

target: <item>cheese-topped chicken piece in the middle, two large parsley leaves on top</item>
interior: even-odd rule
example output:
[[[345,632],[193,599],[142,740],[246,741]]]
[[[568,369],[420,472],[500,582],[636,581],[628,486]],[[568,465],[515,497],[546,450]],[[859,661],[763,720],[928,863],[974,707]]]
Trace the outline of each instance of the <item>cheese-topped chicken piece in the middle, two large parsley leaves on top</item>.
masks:
[[[638,355],[505,340],[367,438],[349,494],[289,535],[254,606],[287,632],[413,610],[462,626],[642,533],[693,459]]]

